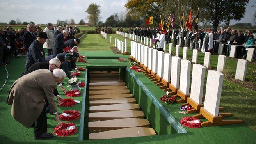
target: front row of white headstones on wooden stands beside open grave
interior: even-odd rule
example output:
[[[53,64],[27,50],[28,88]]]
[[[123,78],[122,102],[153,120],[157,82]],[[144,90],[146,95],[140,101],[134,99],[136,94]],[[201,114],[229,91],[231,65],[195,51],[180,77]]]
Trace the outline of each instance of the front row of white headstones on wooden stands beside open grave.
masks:
[[[189,94],[191,69],[189,60],[171,56],[169,53],[158,51],[135,41],[131,41],[131,56],[165,81],[179,88],[184,94]],[[198,104],[202,104],[205,71],[204,66],[193,64],[190,97]],[[214,116],[219,113],[223,78],[224,75],[219,71],[208,71],[204,108]]]

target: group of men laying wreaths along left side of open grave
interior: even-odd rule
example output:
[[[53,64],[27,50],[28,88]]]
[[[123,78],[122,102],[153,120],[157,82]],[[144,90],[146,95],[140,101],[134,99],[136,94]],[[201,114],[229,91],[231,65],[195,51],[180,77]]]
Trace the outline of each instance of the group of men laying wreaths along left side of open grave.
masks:
[[[78,72],[76,60],[80,58],[80,39],[74,37],[76,32],[71,26],[59,25],[55,28],[53,31],[53,24],[48,23],[44,30],[36,32],[35,25],[29,23],[27,30],[21,32],[19,37],[26,53],[25,69],[11,86],[6,100],[8,105],[12,105],[11,115],[16,121],[26,128],[34,127],[34,139],[53,137],[53,134],[47,133],[46,113],[54,114],[57,123],[62,124],[54,98],[56,96],[58,103],[62,104],[57,85],[66,93],[63,80],[66,77],[76,78],[73,71]],[[10,27],[8,30],[13,32]],[[0,38],[4,39],[1,45],[13,46],[10,41],[5,43],[7,38],[3,36],[1,30]],[[44,48],[47,48],[48,56]]]

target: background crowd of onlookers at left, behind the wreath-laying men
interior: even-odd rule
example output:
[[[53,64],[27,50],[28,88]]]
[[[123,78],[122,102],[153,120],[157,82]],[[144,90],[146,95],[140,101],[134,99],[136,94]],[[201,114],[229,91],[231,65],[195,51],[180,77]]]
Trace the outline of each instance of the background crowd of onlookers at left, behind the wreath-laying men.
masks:
[[[51,53],[50,50],[53,44],[52,34],[55,38],[57,34],[62,32],[62,30],[69,30],[68,37],[65,37],[65,40],[67,40],[73,39],[75,34],[80,33],[80,30],[77,26],[62,26],[61,24],[58,24],[56,27],[53,27],[51,24],[47,25],[46,27],[47,28],[43,30],[41,26],[35,27],[34,24],[30,23],[27,25],[27,29],[23,27],[21,29],[13,29],[11,26],[6,27],[5,29],[0,29],[0,66],[8,64],[9,59],[13,59],[14,57],[18,58],[18,55],[25,54],[28,50],[28,47],[32,41],[35,40],[36,35],[40,31],[47,32],[50,37],[50,39],[47,40],[49,46],[47,46],[47,44],[43,46],[44,48],[47,48],[48,54]],[[26,34],[27,31],[30,33],[33,32],[33,34]],[[30,41],[28,43],[29,45],[27,45],[25,41]]]

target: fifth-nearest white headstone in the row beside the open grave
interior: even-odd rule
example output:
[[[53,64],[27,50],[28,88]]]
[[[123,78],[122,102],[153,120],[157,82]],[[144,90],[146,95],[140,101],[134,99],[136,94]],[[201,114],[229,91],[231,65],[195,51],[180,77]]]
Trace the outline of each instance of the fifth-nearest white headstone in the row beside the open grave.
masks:
[[[164,61],[165,63],[163,79],[167,82],[171,82],[171,54],[165,53]]]

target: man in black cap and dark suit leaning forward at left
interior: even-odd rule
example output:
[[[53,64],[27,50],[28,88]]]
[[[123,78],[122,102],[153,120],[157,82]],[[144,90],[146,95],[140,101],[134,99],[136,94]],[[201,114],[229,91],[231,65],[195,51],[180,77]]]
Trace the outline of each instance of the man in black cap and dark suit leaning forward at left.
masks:
[[[37,39],[31,43],[27,52],[26,59],[26,70],[32,66],[32,64],[40,61],[45,61],[45,54],[43,50],[43,44],[48,39],[47,34],[45,32],[38,32]]]

